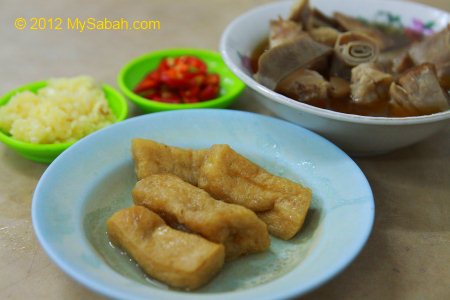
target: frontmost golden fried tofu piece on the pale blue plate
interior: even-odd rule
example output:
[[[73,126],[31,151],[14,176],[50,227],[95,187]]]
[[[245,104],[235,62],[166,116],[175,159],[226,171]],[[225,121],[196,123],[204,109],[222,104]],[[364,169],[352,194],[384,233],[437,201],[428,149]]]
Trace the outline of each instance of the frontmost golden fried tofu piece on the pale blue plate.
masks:
[[[196,289],[222,268],[225,248],[167,226],[143,206],[116,212],[107,221],[111,241],[153,278],[176,288]]]

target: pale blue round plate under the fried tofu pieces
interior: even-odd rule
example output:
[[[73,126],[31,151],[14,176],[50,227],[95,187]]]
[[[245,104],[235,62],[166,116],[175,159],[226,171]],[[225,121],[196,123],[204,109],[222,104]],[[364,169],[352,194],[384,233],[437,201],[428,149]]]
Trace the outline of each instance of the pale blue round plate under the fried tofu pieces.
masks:
[[[106,219],[132,204],[130,140],[205,148],[226,143],[269,171],[308,186],[302,231],[270,250],[226,263],[195,292],[150,280],[106,235]],[[32,207],[36,235],[72,278],[113,298],[273,299],[303,294],[340,272],[366,242],[374,217],[361,170],[322,137],[285,121],[230,110],[181,110],[132,118],[77,142],[46,170]]]

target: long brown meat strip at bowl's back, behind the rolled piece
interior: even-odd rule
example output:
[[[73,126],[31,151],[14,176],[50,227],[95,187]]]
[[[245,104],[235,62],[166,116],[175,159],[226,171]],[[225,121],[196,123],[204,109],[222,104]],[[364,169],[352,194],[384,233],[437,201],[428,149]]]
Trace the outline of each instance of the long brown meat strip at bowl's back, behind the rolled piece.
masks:
[[[378,48],[380,48],[381,50],[387,49],[394,45],[394,41],[392,41],[388,36],[383,34],[374,26],[366,25],[356,18],[344,15],[339,12],[335,12],[333,16],[337,23],[345,31],[362,32],[370,36],[375,41]]]

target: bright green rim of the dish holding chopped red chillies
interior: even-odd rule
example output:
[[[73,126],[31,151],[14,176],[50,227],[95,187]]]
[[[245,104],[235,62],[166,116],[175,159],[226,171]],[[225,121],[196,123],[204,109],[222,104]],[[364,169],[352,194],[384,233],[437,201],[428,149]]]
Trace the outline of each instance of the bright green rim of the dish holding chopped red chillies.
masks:
[[[227,93],[221,95],[220,97],[201,101],[197,103],[165,103],[159,102],[151,99],[147,99],[139,96],[134,93],[128,86],[125,84],[125,76],[129,72],[129,70],[142,63],[143,61],[150,60],[155,57],[160,56],[181,56],[181,55],[194,55],[198,56],[202,60],[210,60],[215,61],[221,64],[220,68],[227,70],[228,67],[226,63],[223,61],[222,56],[219,52],[208,50],[208,49],[200,49],[200,48],[169,48],[169,49],[161,49],[156,51],[151,51],[139,55],[133,58],[131,61],[126,63],[119,71],[117,75],[117,85],[119,86],[122,93],[125,94],[132,102],[140,107],[146,107],[151,109],[158,110],[172,110],[172,109],[188,109],[188,108],[206,108],[206,107],[215,107],[216,105],[220,105],[222,103],[226,103],[227,101],[234,100],[245,88],[245,84],[241,81],[241,79],[236,76],[231,70],[229,71],[231,76],[227,76],[227,78],[233,79],[233,84]],[[222,76],[221,76],[222,77]],[[234,78],[233,78],[234,77]],[[222,78],[221,78],[222,80]]]

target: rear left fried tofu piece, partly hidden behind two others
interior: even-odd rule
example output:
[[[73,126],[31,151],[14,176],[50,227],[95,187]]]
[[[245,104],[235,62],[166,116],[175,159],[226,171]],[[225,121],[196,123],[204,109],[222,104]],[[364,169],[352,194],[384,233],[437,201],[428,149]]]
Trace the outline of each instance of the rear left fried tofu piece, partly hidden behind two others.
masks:
[[[198,171],[207,150],[182,149],[152,140],[133,139],[131,151],[138,180],[152,174],[170,173],[197,185]]]

